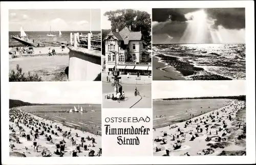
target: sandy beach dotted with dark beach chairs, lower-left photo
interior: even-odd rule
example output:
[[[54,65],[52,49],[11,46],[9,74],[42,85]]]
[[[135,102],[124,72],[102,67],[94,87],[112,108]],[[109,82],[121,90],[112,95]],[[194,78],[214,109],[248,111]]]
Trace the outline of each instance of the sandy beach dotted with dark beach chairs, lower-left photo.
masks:
[[[99,135],[42,119],[20,108],[10,109],[9,120],[10,156],[101,155],[101,136]]]

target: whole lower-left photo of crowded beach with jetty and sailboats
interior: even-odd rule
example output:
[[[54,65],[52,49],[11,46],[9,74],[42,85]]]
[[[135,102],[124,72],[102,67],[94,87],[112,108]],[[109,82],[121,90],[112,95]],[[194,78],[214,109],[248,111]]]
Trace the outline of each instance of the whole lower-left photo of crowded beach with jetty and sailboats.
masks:
[[[13,82],[10,157],[101,156],[101,82]]]

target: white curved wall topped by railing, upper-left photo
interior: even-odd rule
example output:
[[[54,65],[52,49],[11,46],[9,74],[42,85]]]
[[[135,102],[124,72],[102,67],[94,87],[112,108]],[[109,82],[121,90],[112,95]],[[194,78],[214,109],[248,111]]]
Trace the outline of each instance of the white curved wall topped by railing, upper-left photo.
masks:
[[[101,80],[101,34],[70,33],[69,81]]]

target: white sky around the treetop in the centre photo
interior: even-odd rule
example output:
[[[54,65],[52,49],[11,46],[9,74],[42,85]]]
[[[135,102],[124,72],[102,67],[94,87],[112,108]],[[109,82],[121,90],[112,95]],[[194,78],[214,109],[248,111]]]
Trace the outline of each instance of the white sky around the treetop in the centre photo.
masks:
[[[107,8],[103,8],[101,9],[101,13],[102,13],[102,16],[101,16],[101,22],[102,22],[102,29],[111,29],[111,21],[108,20],[108,17],[107,16],[104,16],[104,13],[107,12],[107,11],[115,11],[115,10],[118,10],[117,8],[110,8],[110,9],[107,9]],[[139,11],[145,11],[149,14],[152,14],[152,9],[151,8],[145,8],[145,9],[134,9],[134,10],[139,10]]]

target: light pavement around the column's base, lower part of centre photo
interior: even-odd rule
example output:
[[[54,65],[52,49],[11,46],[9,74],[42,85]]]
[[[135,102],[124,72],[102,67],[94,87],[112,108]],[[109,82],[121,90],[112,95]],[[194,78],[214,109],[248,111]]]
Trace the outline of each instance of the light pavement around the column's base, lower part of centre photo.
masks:
[[[122,89],[125,93],[125,100],[113,101],[112,99],[105,99],[105,95],[114,93],[112,83],[102,82],[102,108],[151,108],[151,84],[122,84]],[[135,87],[140,92],[140,96],[134,96]]]

